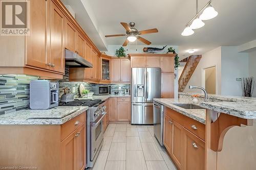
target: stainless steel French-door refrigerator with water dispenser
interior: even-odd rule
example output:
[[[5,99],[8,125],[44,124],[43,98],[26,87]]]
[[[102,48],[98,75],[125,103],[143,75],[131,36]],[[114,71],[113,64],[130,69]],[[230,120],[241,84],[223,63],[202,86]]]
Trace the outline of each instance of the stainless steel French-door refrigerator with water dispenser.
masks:
[[[132,124],[153,124],[153,99],[161,98],[161,68],[132,68]]]

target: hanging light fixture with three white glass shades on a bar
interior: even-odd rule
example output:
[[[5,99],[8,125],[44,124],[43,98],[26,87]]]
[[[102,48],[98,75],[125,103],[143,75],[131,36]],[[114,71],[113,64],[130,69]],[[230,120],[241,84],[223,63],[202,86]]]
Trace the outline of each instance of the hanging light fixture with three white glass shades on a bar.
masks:
[[[198,11],[198,0],[196,0],[196,15],[187,22],[186,28],[181,33],[182,36],[194,34],[193,30],[202,28],[205,25],[202,20],[208,20],[218,15],[218,12],[210,5],[212,1],[213,0],[210,0],[200,11]],[[199,16],[199,14],[201,15]]]

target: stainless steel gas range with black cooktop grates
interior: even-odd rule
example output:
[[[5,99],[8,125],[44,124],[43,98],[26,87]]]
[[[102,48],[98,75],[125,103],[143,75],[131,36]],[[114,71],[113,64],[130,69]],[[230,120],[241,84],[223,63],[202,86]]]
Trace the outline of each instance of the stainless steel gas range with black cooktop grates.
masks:
[[[93,167],[103,141],[103,117],[106,114],[106,102],[101,100],[75,100],[59,103],[60,106],[89,106],[86,118],[86,164]]]

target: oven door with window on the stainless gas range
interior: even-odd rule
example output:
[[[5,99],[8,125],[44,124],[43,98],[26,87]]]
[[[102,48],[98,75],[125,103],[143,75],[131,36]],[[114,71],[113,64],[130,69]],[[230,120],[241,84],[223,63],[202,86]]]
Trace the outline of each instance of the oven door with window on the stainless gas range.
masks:
[[[95,122],[91,122],[91,154],[90,158],[93,161],[97,152],[99,152],[100,143],[103,140],[103,117],[105,114],[101,114]]]

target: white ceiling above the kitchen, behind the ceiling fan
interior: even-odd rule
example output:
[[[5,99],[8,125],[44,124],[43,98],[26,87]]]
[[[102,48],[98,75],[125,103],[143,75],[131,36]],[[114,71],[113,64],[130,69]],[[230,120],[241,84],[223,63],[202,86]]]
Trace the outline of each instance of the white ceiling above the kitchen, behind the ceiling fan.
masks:
[[[135,28],[140,30],[157,28],[159,33],[143,35],[152,45],[179,45],[179,53],[185,54],[191,48],[203,54],[221,45],[241,45],[256,39],[256,1],[255,0],[214,0],[211,4],[219,15],[205,21],[205,26],[195,30],[195,34],[183,37],[181,32],[196,12],[194,0],[63,0],[79,4],[82,2],[90,16],[96,32],[89,36],[99,50],[104,51],[107,45],[121,45],[125,37],[105,38],[108,34],[123,34],[120,22],[136,22]],[[199,9],[208,1],[199,0]],[[82,6],[78,6],[82,8]],[[77,13],[77,9],[73,10]],[[78,14],[77,14],[78,15]],[[79,14],[81,15],[81,14]],[[86,22],[80,17],[79,22]],[[84,23],[84,29],[89,31]],[[89,26],[88,26],[89,27]],[[94,35],[97,34],[98,35]],[[90,35],[92,34],[92,35]],[[103,44],[103,45],[102,45]],[[142,43],[138,43],[142,44]]]

